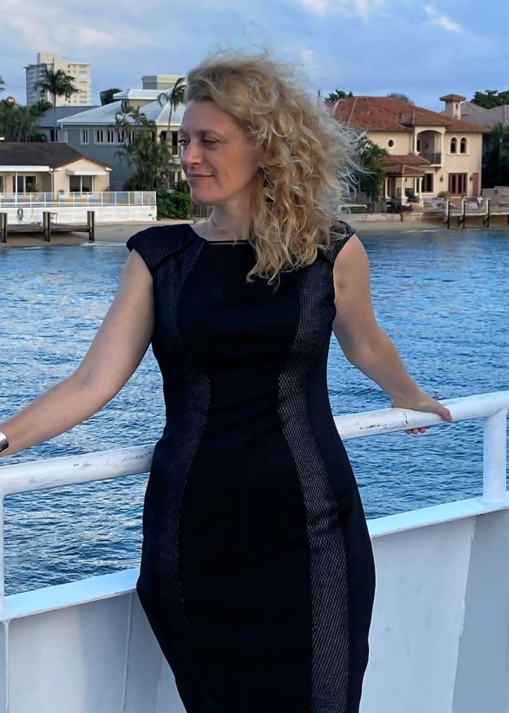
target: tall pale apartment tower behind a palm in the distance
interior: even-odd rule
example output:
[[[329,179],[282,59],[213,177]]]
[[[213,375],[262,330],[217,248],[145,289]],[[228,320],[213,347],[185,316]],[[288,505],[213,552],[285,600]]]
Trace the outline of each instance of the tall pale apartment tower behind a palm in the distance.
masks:
[[[26,104],[36,104],[39,99],[53,101],[48,92],[41,94],[41,90],[36,88],[36,84],[43,78],[45,69],[63,69],[66,74],[74,77],[73,84],[78,89],[78,93],[69,98],[58,96],[56,106],[90,106],[92,103],[92,81],[90,64],[88,62],[70,62],[66,57],[59,57],[53,52],[38,52],[37,63],[29,64],[26,70]]]

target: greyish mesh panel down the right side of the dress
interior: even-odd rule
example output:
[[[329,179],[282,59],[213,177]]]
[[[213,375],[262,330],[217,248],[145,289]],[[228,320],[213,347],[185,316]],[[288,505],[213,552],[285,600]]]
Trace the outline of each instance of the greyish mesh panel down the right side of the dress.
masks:
[[[346,240],[344,241],[346,242]],[[336,245],[334,252],[339,251]],[[331,255],[331,257],[333,257]],[[345,713],[349,687],[348,580],[344,538],[322,453],[307,418],[307,381],[319,344],[317,309],[327,262],[316,261],[297,277],[299,327],[279,376],[279,416],[299,473],[307,511],[312,585],[312,713]],[[330,336],[330,335],[329,335]]]

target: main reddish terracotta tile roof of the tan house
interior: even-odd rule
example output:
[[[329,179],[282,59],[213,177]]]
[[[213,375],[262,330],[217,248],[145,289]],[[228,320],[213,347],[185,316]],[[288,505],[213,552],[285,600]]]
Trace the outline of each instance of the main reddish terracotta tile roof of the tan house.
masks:
[[[453,116],[423,109],[387,96],[354,96],[339,99],[334,118],[359,129],[413,132],[418,126],[444,126],[448,131],[488,133],[489,126],[470,123]]]

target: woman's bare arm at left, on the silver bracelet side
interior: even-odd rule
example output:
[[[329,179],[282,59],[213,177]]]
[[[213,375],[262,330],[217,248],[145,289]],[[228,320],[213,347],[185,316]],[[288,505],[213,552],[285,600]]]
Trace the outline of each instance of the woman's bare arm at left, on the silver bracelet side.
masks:
[[[0,431],[9,439],[0,458],[63,434],[100,411],[138,368],[153,324],[152,277],[133,250],[115,298],[76,371],[0,422]]]

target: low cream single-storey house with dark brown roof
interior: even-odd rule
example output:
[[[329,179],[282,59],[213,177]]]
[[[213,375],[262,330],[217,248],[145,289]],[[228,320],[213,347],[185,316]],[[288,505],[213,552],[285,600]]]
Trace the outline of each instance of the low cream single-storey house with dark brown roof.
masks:
[[[106,191],[111,170],[66,143],[0,141],[0,195]]]

